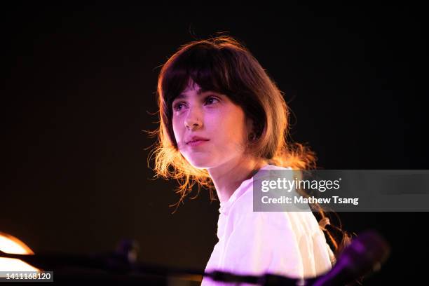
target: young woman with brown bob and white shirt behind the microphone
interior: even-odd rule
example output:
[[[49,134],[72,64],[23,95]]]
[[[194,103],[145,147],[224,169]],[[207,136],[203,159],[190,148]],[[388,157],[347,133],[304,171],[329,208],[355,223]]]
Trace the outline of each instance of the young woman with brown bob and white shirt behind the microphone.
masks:
[[[219,241],[205,271],[292,278],[328,271],[335,257],[312,212],[252,210],[259,170],[314,168],[315,154],[287,142],[285,99],[250,51],[230,36],[181,46],[163,65],[157,91],[156,174],[181,182],[178,203],[193,184],[212,199],[215,189],[220,201]]]

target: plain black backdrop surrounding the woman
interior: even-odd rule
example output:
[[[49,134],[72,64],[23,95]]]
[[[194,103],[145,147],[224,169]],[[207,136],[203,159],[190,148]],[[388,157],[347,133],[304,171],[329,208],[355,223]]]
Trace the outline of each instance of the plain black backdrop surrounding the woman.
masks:
[[[203,269],[219,203],[178,200],[147,165],[160,66],[194,39],[229,32],[294,112],[292,138],[325,169],[427,169],[427,30],[411,6],[39,6],[1,11],[4,128],[0,231],[35,252],[107,252]],[[153,163],[151,163],[153,166]],[[194,193],[195,194],[195,193]],[[340,213],[376,229],[390,259],[365,285],[416,282],[424,212]]]

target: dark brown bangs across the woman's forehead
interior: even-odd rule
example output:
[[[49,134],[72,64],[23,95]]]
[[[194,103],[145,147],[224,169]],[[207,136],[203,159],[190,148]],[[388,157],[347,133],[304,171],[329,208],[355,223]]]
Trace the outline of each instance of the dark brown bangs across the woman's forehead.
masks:
[[[188,86],[189,80],[204,91],[230,95],[229,61],[231,60],[225,58],[222,50],[207,44],[184,50],[168,64],[163,76],[163,96],[168,108],[175,97]]]

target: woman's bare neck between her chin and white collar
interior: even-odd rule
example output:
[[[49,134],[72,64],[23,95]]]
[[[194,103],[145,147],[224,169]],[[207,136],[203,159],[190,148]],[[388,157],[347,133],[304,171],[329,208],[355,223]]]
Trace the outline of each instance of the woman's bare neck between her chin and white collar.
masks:
[[[228,201],[243,181],[253,177],[266,164],[267,161],[261,158],[242,158],[207,169],[220,202]]]

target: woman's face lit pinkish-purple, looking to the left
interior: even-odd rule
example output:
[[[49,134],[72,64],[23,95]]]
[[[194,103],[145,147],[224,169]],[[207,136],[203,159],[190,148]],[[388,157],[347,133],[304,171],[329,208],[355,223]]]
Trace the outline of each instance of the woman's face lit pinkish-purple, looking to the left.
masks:
[[[188,87],[172,102],[172,125],[180,153],[195,168],[210,169],[244,155],[252,121],[226,95]],[[193,136],[205,141],[189,142]]]

